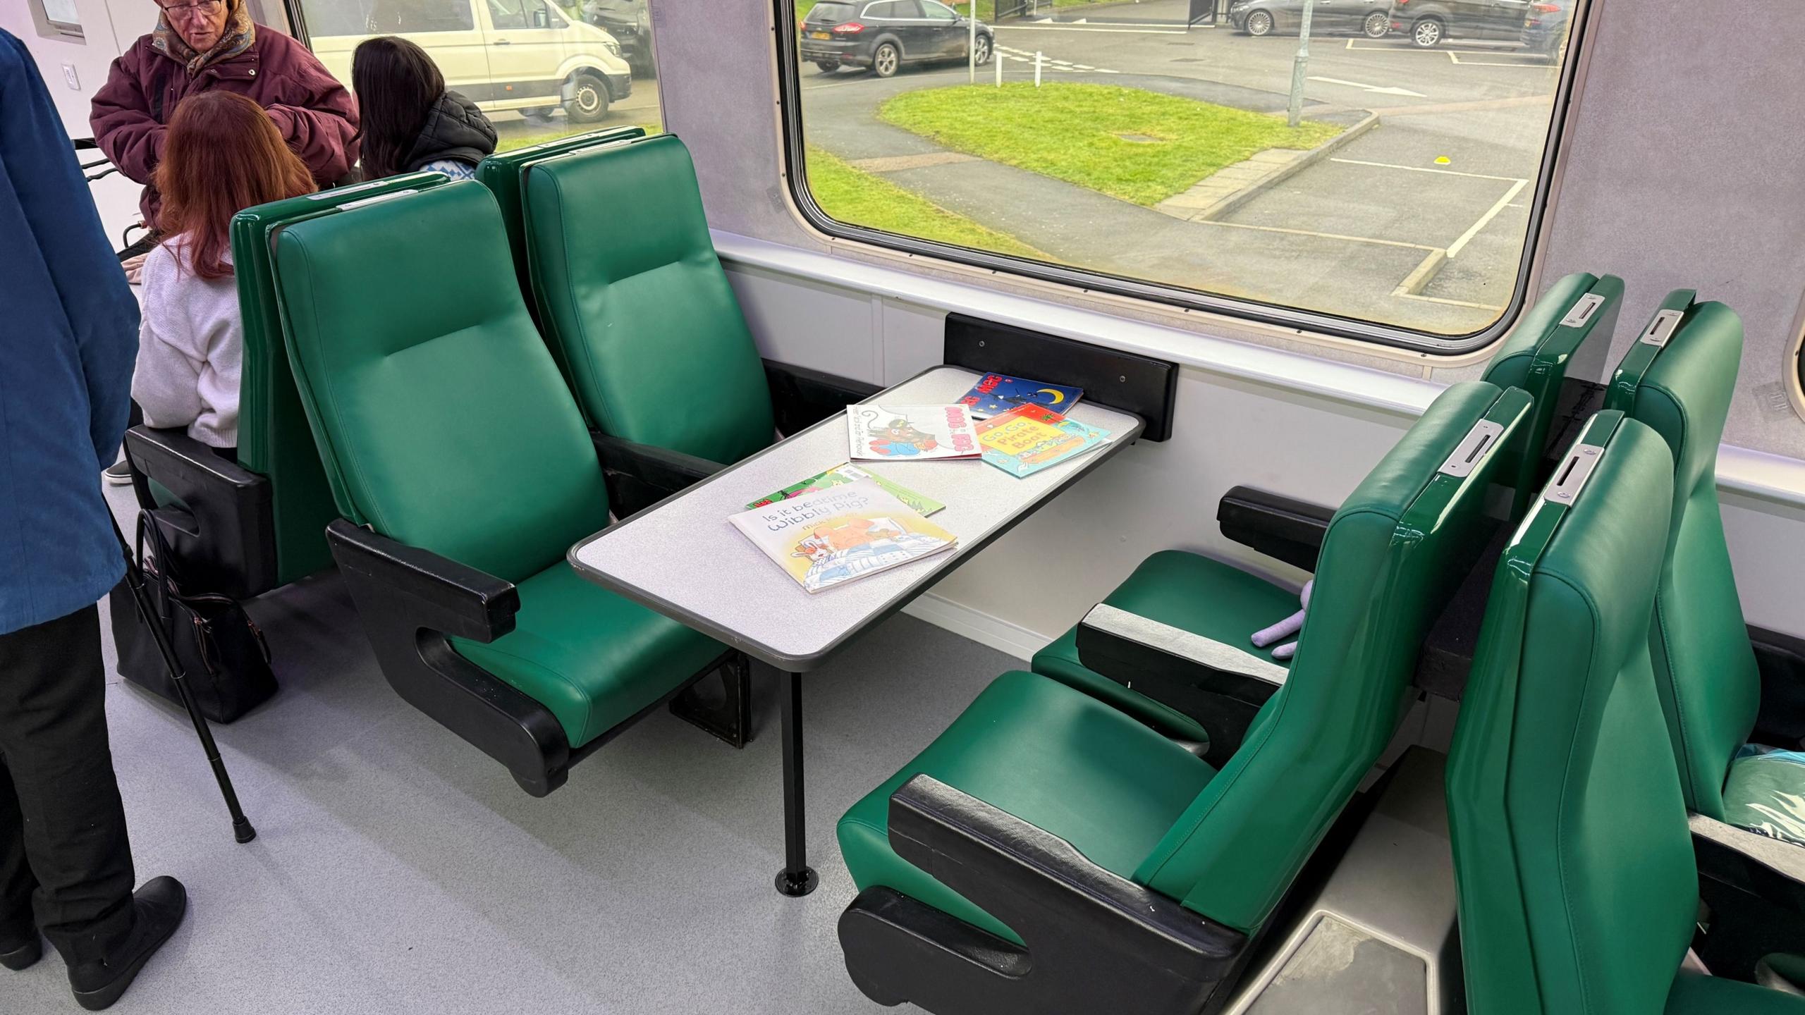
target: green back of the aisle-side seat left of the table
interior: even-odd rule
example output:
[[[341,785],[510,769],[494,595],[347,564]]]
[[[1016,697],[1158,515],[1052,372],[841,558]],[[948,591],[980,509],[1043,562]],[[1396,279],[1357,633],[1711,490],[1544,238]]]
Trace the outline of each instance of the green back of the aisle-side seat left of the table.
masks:
[[[482,184],[276,235],[289,352],[339,509],[509,582],[608,524],[583,417]]]

